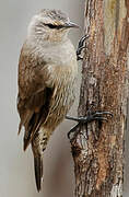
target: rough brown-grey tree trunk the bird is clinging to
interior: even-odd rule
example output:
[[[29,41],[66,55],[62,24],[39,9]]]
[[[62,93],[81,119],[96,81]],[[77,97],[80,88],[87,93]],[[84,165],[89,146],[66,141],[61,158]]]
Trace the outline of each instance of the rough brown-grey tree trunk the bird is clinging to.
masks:
[[[109,111],[105,123],[80,126],[71,140],[75,197],[121,197],[124,134],[127,131],[129,1],[86,0],[90,37],[82,65],[79,116]]]

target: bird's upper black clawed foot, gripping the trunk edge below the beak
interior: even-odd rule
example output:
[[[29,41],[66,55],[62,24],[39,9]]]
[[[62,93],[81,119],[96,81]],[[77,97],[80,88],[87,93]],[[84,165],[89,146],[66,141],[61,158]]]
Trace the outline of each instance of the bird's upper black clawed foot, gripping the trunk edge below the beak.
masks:
[[[81,39],[79,40],[79,45],[78,45],[78,49],[77,49],[77,60],[82,60],[82,56],[81,53],[84,48],[86,48],[86,45],[84,45],[85,39],[89,38],[89,35],[84,35],[83,37],[81,37]]]

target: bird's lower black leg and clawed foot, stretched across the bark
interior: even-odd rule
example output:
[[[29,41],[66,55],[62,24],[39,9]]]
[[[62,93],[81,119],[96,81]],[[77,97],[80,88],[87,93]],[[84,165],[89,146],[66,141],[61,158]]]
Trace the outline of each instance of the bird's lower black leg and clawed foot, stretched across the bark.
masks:
[[[112,116],[113,117],[113,114],[110,112],[95,112],[95,113],[87,113],[87,116],[84,116],[84,117],[71,117],[71,116],[66,116],[66,119],[70,119],[70,120],[74,120],[74,121],[78,121],[78,125],[75,125],[69,132],[68,132],[68,138],[70,139],[70,135],[72,132],[75,132],[77,128],[80,126],[80,125],[84,125],[84,124],[87,124],[87,123],[91,123],[91,121],[94,121],[94,120],[98,120],[98,121],[107,121],[108,118],[107,117],[104,117],[104,115],[107,115],[107,116]]]

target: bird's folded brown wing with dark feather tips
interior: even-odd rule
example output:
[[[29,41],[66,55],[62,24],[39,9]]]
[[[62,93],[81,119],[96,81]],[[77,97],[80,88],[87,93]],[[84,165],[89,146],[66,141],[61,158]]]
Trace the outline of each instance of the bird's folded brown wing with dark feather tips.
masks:
[[[47,88],[45,83],[45,65],[44,60],[23,46],[19,63],[17,111],[21,118],[19,134],[22,126],[25,128],[24,150],[45,121],[54,92],[54,89]]]

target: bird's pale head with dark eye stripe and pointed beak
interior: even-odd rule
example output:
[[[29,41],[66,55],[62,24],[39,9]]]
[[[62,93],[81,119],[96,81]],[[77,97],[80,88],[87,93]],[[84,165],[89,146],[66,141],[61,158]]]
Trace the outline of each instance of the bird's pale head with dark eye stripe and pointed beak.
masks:
[[[72,27],[79,26],[70,22],[69,18],[60,10],[43,9],[32,19],[28,35],[44,40],[60,42],[66,38]]]

